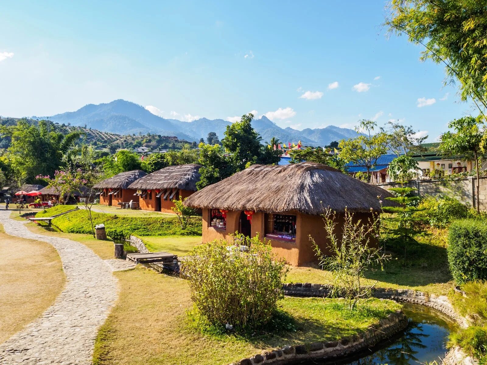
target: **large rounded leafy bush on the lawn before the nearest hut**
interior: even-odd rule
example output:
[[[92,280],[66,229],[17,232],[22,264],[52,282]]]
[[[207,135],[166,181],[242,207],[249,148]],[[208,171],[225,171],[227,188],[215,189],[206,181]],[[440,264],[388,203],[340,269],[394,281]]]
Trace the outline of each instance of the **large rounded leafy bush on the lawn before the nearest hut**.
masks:
[[[196,246],[188,253],[183,275],[198,311],[217,327],[227,323],[255,329],[269,322],[283,297],[285,261],[258,237],[247,240],[248,252],[226,240]]]

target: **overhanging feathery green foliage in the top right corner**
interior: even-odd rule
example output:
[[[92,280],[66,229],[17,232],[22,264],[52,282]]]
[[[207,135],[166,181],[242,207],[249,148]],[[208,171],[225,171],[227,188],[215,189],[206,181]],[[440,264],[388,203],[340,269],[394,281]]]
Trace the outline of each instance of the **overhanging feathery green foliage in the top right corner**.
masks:
[[[484,0],[392,0],[385,24],[425,50],[421,60],[445,64],[446,83],[460,81],[462,100],[487,108],[487,12]],[[481,105],[479,105],[481,104]]]

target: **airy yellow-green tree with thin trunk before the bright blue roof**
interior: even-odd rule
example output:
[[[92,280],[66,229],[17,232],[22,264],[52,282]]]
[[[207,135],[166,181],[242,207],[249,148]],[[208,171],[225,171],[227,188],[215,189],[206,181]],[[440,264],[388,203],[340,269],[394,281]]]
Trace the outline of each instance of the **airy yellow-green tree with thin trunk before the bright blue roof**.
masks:
[[[338,157],[345,163],[353,163],[367,168],[367,182],[370,182],[370,170],[377,159],[387,153],[387,133],[379,131],[372,134],[377,124],[372,120],[362,119],[355,128],[357,132],[366,132],[349,140],[341,140],[338,144]]]

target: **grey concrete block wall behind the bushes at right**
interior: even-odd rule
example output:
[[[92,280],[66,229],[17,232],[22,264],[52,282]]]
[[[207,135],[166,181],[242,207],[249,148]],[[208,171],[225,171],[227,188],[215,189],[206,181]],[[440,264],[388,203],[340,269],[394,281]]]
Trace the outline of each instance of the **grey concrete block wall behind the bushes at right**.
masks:
[[[404,184],[417,189],[419,196],[450,196],[467,204],[470,207],[476,207],[476,178],[468,177],[465,179],[447,180],[417,180]],[[400,187],[398,183],[378,184],[383,189],[391,187]],[[487,210],[487,177],[479,179],[479,199],[480,209]]]

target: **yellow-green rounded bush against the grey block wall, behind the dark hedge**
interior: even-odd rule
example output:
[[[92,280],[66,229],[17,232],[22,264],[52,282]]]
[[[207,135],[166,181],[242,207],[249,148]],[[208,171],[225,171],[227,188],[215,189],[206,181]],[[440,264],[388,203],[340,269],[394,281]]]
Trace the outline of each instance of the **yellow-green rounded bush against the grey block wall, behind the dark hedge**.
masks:
[[[451,221],[468,216],[468,207],[448,196],[425,197],[419,204],[419,208],[424,210],[417,212],[416,216],[435,228],[445,228]]]

